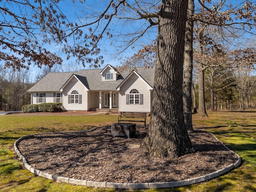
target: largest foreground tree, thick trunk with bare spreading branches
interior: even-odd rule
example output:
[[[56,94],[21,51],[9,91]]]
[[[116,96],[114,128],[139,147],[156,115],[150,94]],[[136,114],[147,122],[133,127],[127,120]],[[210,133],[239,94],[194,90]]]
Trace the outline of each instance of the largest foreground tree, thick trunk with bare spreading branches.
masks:
[[[65,16],[54,7],[55,4],[46,3],[52,6],[39,6],[40,15],[35,13],[45,34],[44,42],[60,42],[67,58],[75,56],[82,64],[99,66],[104,62],[100,55],[104,49],[102,40],[111,41],[109,44],[122,54],[142,40],[142,36],[147,39],[150,32],[158,32],[152,116],[144,146],[150,155],[157,157],[177,158],[194,152],[184,123],[182,102],[188,1],[110,0],[98,4],[84,1],[85,12],[76,12],[76,23],[64,21]],[[122,27],[115,28],[118,24]]]

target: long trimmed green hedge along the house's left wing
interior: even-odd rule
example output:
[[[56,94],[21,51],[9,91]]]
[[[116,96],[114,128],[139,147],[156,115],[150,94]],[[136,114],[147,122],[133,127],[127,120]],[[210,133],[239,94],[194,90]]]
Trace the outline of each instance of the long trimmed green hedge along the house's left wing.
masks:
[[[62,111],[62,103],[41,103],[22,106],[22,112],[60,112]]]

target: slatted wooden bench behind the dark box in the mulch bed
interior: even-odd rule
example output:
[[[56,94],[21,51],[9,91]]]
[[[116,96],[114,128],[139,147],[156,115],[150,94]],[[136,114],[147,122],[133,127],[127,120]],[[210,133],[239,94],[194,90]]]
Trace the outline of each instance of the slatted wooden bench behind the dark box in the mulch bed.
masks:
[[[146,128],[146,113],[139,112],[121,112],[118,116],[118,123],[121,122],[144,122],[144,128]]]

